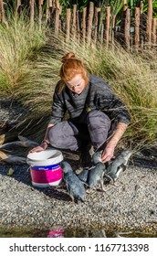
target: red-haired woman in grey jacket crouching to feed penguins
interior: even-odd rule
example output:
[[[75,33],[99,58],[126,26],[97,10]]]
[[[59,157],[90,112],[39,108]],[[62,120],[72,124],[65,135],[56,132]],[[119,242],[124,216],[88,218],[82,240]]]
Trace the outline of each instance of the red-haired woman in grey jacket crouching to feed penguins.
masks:
[[[69,119],[62,121],[66,112]],[[60,149],[80,150],[82,162],[89,162],[90,143],[94,150],[103,149],[101,159],[106,163],[113,157],[130,119],[109,85],[90,75],[74,53],[69,52],[62,58],[45,139],[31,152],[45,150],[50,144]]]

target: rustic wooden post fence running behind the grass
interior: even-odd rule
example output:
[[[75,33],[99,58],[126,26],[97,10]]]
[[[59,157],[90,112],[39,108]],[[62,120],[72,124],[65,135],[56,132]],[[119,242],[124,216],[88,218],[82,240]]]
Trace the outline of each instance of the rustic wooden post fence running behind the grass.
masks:
[[[28,1],[28,0],[27,0]],[[29,0],[30,25],[35,23],[35,5],[38,4],[38,27],[41,29],[42,21],[45,19],[47,25],[52,27],[58,36],[59,31],[66,32],[66,41],[70,39],[80,41],[83,44],[91,45],[91,41],[97,44],[98,40],[101,44],[111,45],[114,47],[115,39],[128,50],[135,48],[144,48],[145,42],[149,47],[156,46],[157,43],[157,19],[152,18],[152,2],[148,0],[147,15],[143,13],[143,1],[139,1],[138,7],[135,6],[134,31],[131,31],[131,10],[127,5],[127,0],[123,0],[121,12],[120,26],[116,27],[116,16],[110,16],[110,6],[106,7],[105,16],[101,16],[102,24],[100,24],[101,8],[95,7],[93,2],[89,2],[88,7],[84,7],[82,12],[78,11],[78,5],[68,8],[66,18],[60,18],[61,5],[59,0]],[[132,3],[132,2],[131,2]],[[16,13],[21,14],[21,0],[16,0]],[[46,4],[46,9],[43,5]],[[3,0],[0,0],[0,22],[7,25],[5,16],[5,8]],[[28,13],[28,12],[27,12]],[[37,20],[37,18],[36,18]]]

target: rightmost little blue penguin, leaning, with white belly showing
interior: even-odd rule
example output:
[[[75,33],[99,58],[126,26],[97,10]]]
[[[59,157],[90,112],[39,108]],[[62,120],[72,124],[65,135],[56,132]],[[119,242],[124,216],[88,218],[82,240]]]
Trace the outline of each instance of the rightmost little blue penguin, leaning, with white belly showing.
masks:
[[[120,172],[126,169],[130,157],[131,151],[129,149],[123,149],[120,155],[107,167],[107,172],[104,177],[107,177],[114,184],[120,176]]]

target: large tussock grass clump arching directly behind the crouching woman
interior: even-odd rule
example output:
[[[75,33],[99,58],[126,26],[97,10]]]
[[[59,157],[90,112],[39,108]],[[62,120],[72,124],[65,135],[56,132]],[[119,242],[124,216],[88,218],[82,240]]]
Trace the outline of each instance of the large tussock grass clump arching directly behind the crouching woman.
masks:
[[[77,41],[66,43],[63,37],[48,37],[37,59],[37,69],[29,81],[29,84],[34,84],[34,88],[26,89],[29,95],[22,97],[32,112],[42,115],[50,112],[52,91],[59,79],[60,59],[71,50],[82,59],[90,73],[110,84],[131,112],[131,125],[123,141],[133,146],[136,144],[137,147],[156,145],[157,75],[154,57],[152,61],[154,52],[151,51],[146,56],[126,52],[118,45],[115,48],[99,45],[89,48],[88,44],[82,46]]]

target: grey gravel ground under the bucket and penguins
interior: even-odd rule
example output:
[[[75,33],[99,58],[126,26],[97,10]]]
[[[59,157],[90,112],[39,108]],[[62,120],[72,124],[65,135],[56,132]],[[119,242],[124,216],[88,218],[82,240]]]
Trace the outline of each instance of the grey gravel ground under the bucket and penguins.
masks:
[[[18,106],[0,101],[0,119],[19,116]],[[0,226],[141,229],[157,234],[157,155],[134,158],[119,176],[119,186],[92,191],[84,203],[72,203],[66,188],[37,188],[28,165],[0,165]],[[140,159],[140,160],[139,160]],[[73,161],[76,170],[77,161]],[[14,173],[8,176],[12,167]],[[62,183],[64,185],[64,183]]]

